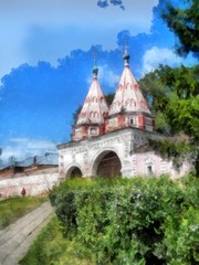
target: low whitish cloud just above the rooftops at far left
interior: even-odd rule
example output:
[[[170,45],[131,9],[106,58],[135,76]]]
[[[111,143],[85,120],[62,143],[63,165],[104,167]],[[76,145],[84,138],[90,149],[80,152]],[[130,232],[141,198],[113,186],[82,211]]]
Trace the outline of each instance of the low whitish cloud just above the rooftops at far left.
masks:
[[[11,157],[20,161],[31,156],[56,152],[56,145],[48,140],[35,140],[29,138],[11,138],[10,142],[2,147],[0,159],[7,162]]]

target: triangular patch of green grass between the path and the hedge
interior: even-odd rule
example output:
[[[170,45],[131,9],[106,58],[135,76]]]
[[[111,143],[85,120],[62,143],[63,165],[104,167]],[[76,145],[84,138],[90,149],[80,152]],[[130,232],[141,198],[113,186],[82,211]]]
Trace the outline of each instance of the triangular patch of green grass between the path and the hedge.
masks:
[[[92,265],[92,253],[80,243],[63,239],[62,225],[56,218],[41,231],[21,265]]]

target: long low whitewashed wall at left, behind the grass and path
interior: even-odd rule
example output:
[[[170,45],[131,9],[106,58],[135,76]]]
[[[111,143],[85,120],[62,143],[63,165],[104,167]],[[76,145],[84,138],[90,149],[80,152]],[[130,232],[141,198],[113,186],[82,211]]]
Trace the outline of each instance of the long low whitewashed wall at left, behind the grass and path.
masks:
[[[19,197],[22,188],[25,195],[39,195],[46,193],[59,182],[57,172],[43,172],[0,180],[1,198]]]

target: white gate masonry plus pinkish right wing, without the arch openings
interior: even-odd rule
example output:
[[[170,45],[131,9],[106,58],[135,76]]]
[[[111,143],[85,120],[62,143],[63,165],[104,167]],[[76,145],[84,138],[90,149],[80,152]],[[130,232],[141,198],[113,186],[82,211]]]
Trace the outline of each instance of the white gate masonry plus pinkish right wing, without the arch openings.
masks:
[[[163,160],[153,151],[135,153],[135,149],[146,144],[149,137],[158,136],[140,129],[126,128],[101,137],[61,145],[59,147],[60,178],[69,178],[75,167],[82,171],[83,177],[96,176],[98,163],[109,151],[118,156],[123,177],[167,173],[171,178],[178,178],[189,171],[190,167],[186,162],[179,171],[176,171],[171,161]]]

